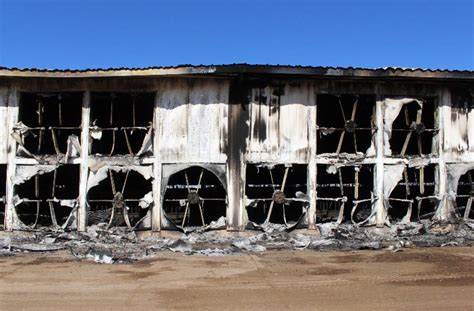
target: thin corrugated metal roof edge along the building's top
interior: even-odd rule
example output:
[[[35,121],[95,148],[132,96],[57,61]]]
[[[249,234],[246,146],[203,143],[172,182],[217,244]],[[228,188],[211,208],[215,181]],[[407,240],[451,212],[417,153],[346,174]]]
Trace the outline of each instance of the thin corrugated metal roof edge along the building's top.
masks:
[[[178,65],[152,66],[143,68],[88,68],[88,69],[39,69],[0,67],[0,77],[127,77],[127,76],[161,76],[161,75],[225,75],[225,74],[280,74],[305,76],[347,76],[362,78],[404,77],[404,78],[438,78],[438,79],[474,79],[473,70],[447,70],[422,68],[360,68],[360,67],[323,67],[295,65],[257,65],[257,64],[222,64],[222,65]]]

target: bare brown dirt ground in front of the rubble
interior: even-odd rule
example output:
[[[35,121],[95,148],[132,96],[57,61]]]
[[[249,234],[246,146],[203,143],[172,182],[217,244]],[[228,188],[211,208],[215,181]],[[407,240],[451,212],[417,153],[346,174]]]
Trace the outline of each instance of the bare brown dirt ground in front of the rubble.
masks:
[[[1,310],[474,310],[474,249],[0,258]]]

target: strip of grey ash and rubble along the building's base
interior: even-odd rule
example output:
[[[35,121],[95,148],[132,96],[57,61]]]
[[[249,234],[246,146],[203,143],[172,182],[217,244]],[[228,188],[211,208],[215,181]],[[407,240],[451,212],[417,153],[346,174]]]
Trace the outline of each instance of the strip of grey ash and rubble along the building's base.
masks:
[[[474,241],[471,222],[433,224],[430,221],[392,227],[358,227],[351,224],[324,223],[318,231],[278,230],[271,225],[263,231],[156,233],[128,228],[107,229],[107,224],[93,225],[85,232],[57,229],[34,232],[1,232],[0,256],[69,250],[79,260],[97,263],[126,263],[152,258],[160,252],[184,255],[227,256],[241,253],[262,254],[270,250],[386,250],[401,251],[410,247],[470,246]]]

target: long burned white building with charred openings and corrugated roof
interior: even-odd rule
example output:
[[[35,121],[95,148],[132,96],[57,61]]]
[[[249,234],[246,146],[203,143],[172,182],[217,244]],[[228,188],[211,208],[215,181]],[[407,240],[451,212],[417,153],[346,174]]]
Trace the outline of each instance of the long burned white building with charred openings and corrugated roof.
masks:
[[[5,230],[474,218],[474,72],[0,68]]]

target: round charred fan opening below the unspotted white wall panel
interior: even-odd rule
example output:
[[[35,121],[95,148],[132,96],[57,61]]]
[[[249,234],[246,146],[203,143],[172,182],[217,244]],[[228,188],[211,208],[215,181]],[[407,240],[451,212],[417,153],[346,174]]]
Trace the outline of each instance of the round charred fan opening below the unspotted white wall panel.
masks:
[[[163,211],[175,225],[206,226],[225,217],[226,209],[227,192],[211,171],[191,166],[169,177]]]

